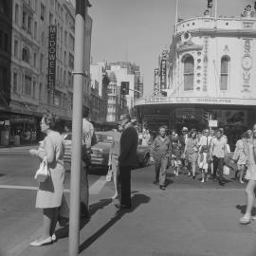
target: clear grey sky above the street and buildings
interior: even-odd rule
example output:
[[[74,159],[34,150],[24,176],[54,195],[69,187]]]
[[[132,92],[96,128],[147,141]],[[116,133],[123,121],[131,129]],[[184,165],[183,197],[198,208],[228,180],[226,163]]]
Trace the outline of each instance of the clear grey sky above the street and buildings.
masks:
[[[214,15],[213,0],[212,12]],[[158,55],[172,43],[176,0],[90,0],[93,63],[129,61],[140,66],[144,96],[153,92]],[[218,16],[240,16],[254,0],[218,0]],[[207,0],[179,0],[178,17],[203,16]]]

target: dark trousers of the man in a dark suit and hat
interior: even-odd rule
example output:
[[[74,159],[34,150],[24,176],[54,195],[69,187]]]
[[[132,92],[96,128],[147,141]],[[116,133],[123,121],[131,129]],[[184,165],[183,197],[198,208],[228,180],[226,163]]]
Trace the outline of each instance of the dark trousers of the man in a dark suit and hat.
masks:
[[[121,184],[121,198],[120,204],[128,208],[132,206],[131,202],[131,166],[120,166],[120,184]]]

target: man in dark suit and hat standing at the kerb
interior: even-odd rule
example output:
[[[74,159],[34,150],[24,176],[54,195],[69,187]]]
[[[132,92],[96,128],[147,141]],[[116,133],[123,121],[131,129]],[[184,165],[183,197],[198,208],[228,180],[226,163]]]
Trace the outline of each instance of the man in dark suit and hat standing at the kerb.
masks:
[[[137,167],[137,130],[128,114],[120,116],[120,125],[124,128],[120,137],[119,174],[120,174],[120,209],[130,209],[131,171]]]

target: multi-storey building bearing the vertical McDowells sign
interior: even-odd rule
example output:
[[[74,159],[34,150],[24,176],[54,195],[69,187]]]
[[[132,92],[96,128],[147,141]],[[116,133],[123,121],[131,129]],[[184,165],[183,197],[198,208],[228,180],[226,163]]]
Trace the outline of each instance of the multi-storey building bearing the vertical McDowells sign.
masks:
[[[7,1],[11,2],[11,1]],[[49,90],[49,26],[56,27],[54,86]],[[85,27],[85,71],[89,74],[92,20]],[[75,9],[67,0],[13,0],[9,133],[10,142],[38,137],[40,119],[49,109],[71,122],[75,46]],[[90,106],[90,76],[84,78],[83,104]],[[86,96],[86,97],[85,97]]]

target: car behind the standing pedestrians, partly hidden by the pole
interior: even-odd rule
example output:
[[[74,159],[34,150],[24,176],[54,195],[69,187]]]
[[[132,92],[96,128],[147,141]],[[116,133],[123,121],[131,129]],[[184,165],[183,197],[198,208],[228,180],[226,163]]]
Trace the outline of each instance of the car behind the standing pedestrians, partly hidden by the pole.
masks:
[[[109,151],[113,142],[114,132],[96,132],[98,143],[92,146],[91,163],[92,166],[108,165]],[[71,163],[71,142],[72,134],[64,134],[64,163]],[[148,146],[137,145],[137,162],[139,167],[148,166],[150,163],[150,148]]]

